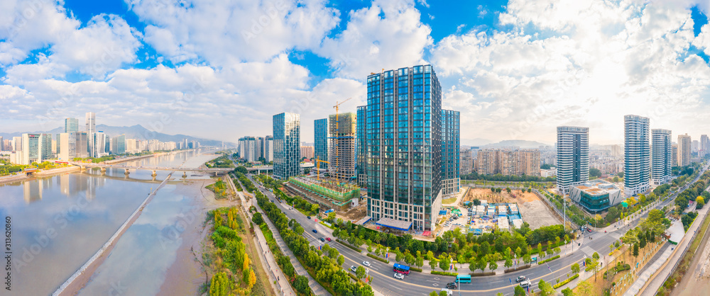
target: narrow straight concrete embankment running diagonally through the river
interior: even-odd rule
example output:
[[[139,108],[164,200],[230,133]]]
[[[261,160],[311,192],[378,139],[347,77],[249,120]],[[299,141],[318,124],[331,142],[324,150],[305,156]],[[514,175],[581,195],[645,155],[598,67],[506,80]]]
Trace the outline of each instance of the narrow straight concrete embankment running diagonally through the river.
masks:
[[[70,278],[68,278],[60,287],[52,294],[53,296],[57,295],[75,295],[79,290],[81,290],[84,285],[89,281],[89,278],[91,278],[92,274],[96,269],[101,265],[101,263],[104,262],[104,260],[109,256],[111,253],[111,250],[114,249],[114,245],[116,244],[116,241],[118,241],[121,236],[126,232],[129,227],[133,224],[133,222],[136,222],[138,219],[138,216],[141,215],[141,212],[143,212],[143,208],[148,205],[148,203],[153,199],[153,196],[155,196],[155,193],[162,188],[165,183],[170,180],[170,177],[173,176],[174,172],[170,172],[168,177],[163,180],[162,183],[160,183],[160,186],[158,188],[155,188],[151,194],[146,197],[146,200],[143,200],[143,203],[129,216],[128,219],[126,219],[126,222],[124,224],[121,224],[121,227],[119,227],[118,230],[116,230],[116,233],[114,233],[113,236],[104,244],[99,251],[94,254],[91,258],[89,258],[89,261],[87,263],[84,263],[84,265],[79,268]]]

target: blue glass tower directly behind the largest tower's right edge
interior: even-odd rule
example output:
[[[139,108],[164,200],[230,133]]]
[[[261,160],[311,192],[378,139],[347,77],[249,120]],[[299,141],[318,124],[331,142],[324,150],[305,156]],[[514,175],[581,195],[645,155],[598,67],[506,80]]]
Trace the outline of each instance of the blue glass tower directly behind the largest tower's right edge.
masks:
[[[457,193],[461,188],[459,118],[459,111],[442,110],[442,195]]]

